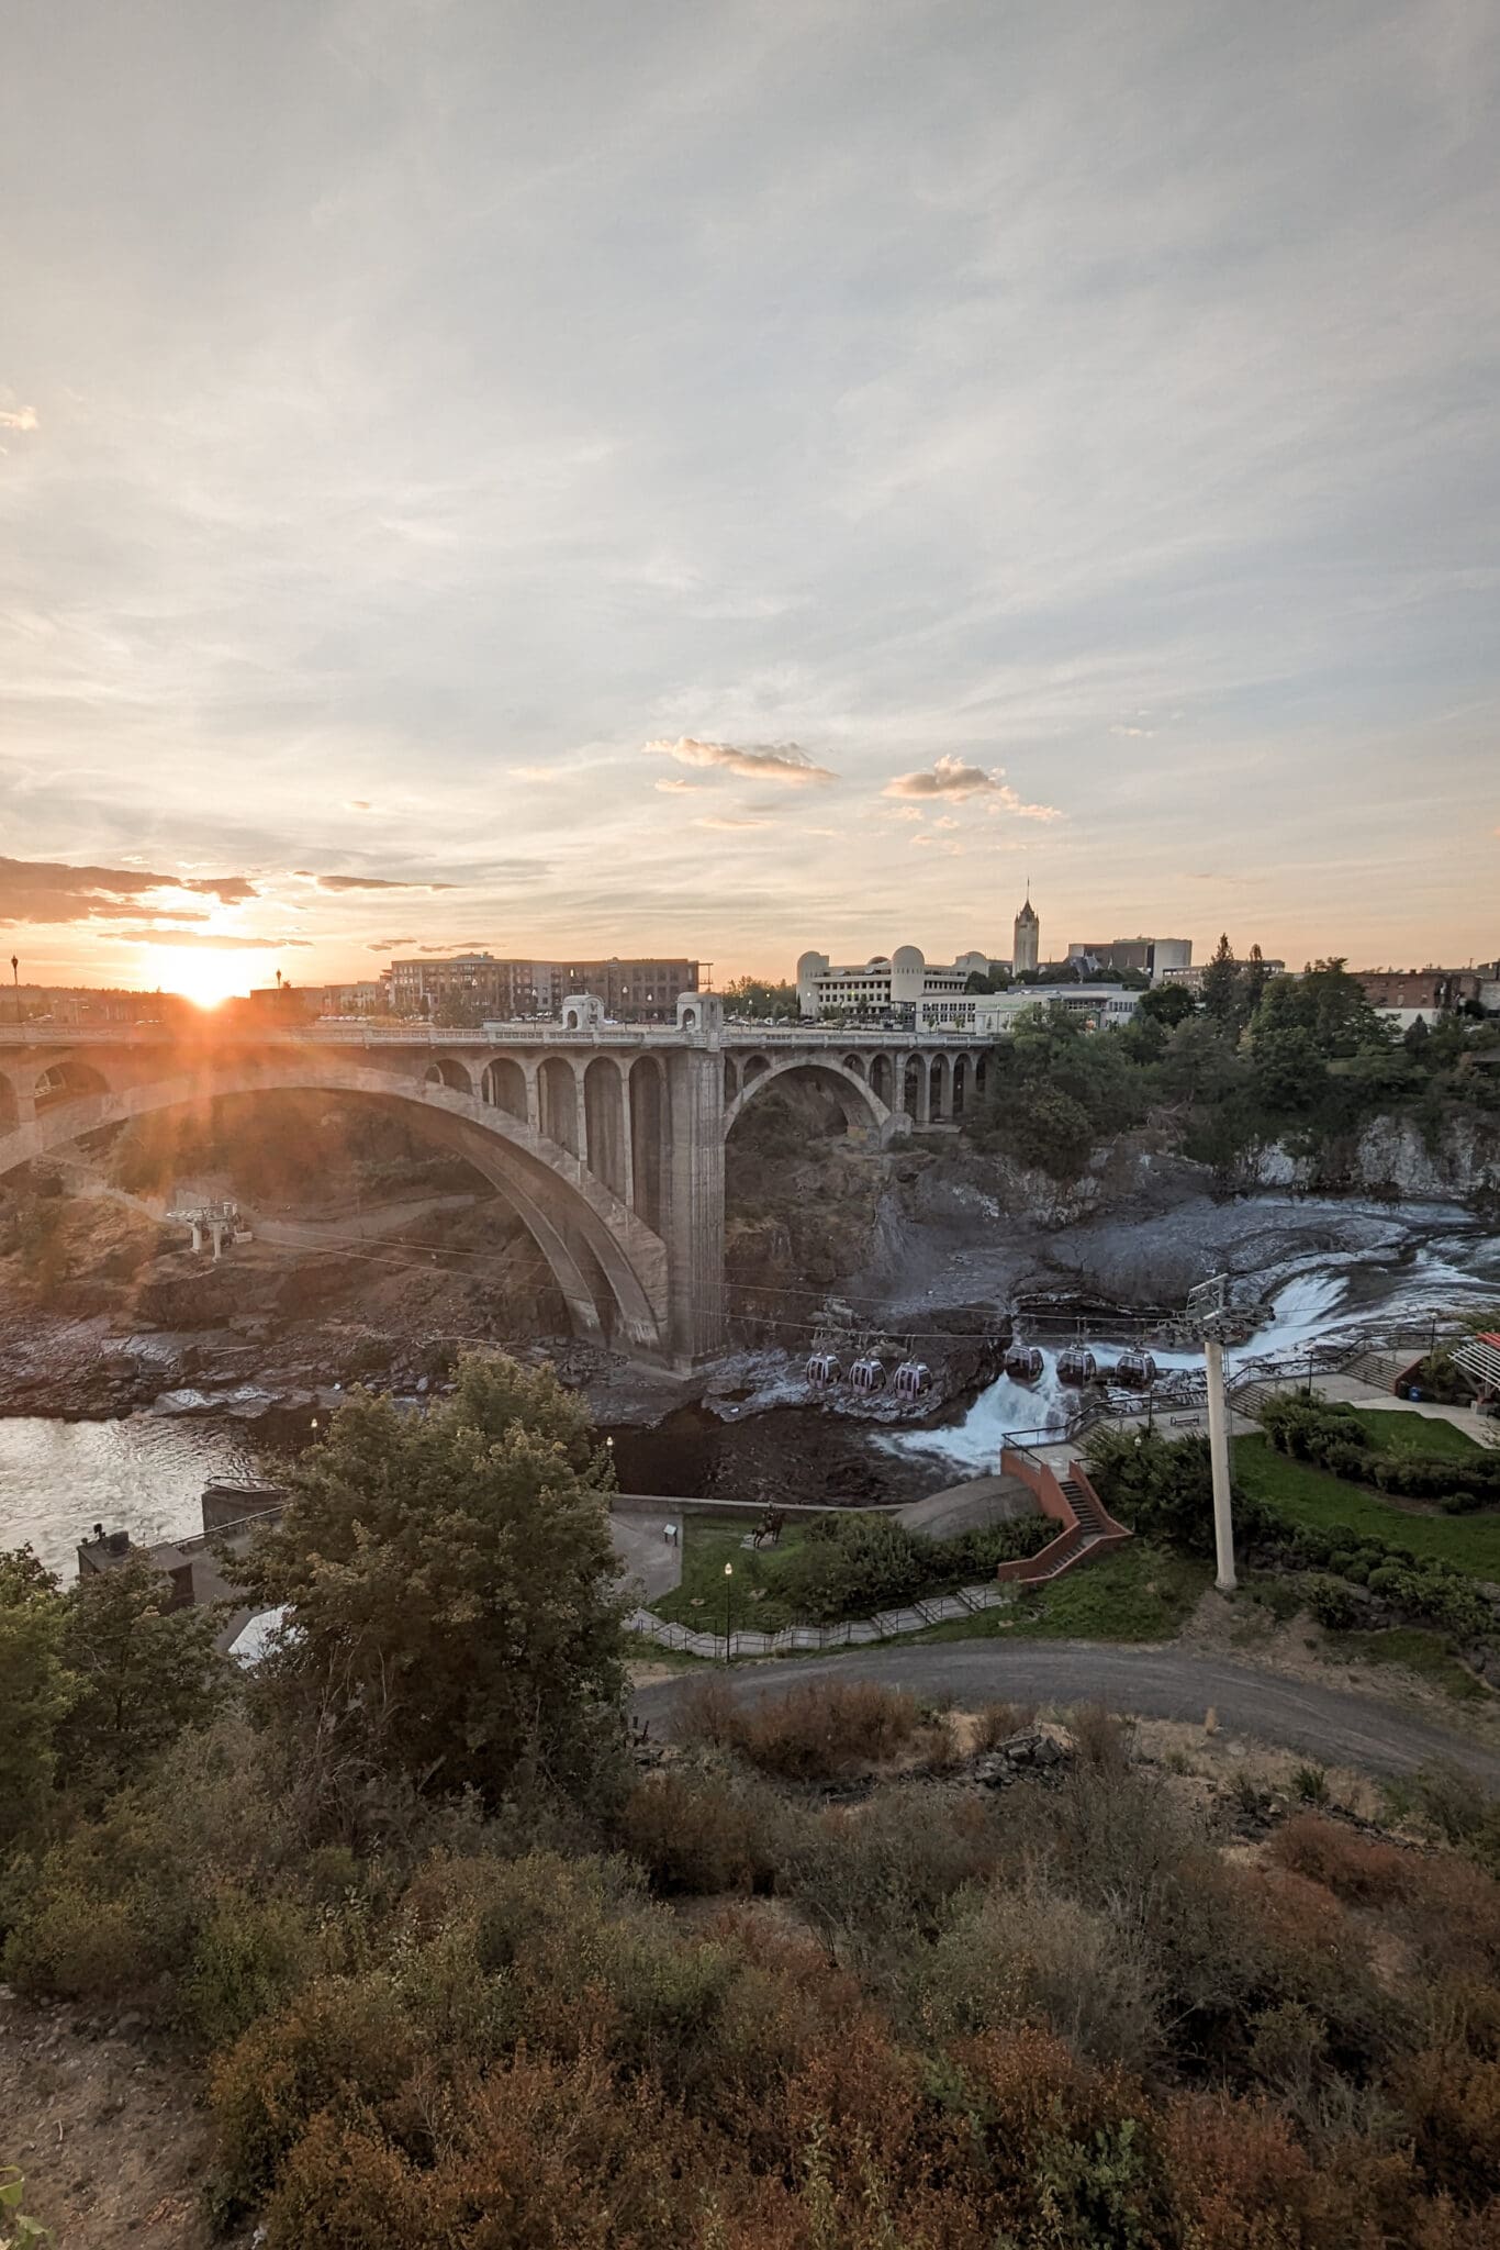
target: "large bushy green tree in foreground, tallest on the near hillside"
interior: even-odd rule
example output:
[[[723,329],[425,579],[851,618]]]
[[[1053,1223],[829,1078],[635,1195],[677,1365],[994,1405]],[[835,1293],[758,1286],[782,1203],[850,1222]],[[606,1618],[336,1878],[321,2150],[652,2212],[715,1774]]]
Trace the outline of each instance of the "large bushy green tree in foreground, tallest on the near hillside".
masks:
[[[290,1611],[265,1703],[418,1789],[585,1786],[623,1694],[607,1483],[551,1368],[468,1357],[425,1415],[355,1393],[245,1566]]]

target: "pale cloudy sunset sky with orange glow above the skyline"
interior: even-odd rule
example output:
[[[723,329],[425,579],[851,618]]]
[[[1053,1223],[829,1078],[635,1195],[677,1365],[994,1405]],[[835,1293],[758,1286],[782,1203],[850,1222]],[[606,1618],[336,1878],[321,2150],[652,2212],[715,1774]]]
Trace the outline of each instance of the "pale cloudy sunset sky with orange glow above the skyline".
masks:
[[[11,0],[0,950],[1500,952],[1491,0]]]

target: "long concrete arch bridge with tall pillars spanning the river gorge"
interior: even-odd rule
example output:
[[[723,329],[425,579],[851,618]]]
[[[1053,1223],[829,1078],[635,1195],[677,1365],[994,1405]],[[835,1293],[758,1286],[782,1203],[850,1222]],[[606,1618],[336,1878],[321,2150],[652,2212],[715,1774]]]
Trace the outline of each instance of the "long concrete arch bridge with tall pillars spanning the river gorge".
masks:
[[[85,1134],[220,1096],[322,1091],[421,1116],[515,1208],[578,1334],[688,1368],[724,1336],[724,1143],[774,1087],[816,1084],[888,1145],[990,1096],[990,1046],[942,1035],[677,1024],[0,1026],[0,1179]]]

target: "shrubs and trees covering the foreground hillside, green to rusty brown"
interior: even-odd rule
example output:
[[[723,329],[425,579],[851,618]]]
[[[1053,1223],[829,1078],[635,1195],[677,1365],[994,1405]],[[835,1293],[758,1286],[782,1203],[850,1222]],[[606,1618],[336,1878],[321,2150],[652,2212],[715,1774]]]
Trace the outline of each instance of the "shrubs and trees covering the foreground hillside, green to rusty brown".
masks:
[[[353,1400],[256,1562],[295,1629],[250,1683],[137,1575],[7,1566],[2,1973],[198,2059],[216,2225],[1496,2239],[1493,1807],[1430,1778],[1392,1843],[1194,1793],[1100,1712],[855,1681],[713,1678],[632,1757],[605,1485],[506,1361],[423,1420]]]

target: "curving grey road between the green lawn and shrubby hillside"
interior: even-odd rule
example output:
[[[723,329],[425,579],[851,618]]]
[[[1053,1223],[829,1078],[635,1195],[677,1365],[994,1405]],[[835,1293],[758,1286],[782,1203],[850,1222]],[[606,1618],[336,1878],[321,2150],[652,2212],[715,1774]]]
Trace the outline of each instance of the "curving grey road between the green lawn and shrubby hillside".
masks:
[[[731,1694],[756,1701],[798,1681],[882,1681],[960,1706],[1005,1699],[1025,1703],[1106,1703],[1142,1719],[1203,1724],[1217,1712],[1221,1732],[1277,1744],[1325,1766],[1415,1773],[1444,1760],[1500,1791],[1500,1753],[1466,1735],[1428,1726],[1390,1703],[1304,1681],[1255,1672],[1217,1656],[1172,1647],[1122,1649],[1084,1640],[938,1642],[906,1649],[855,1649],[765,1665],[731,1665],[720,1674]],[[657,1730],[695,1685],[693,1674],[639,1688],[634,1708]]]

